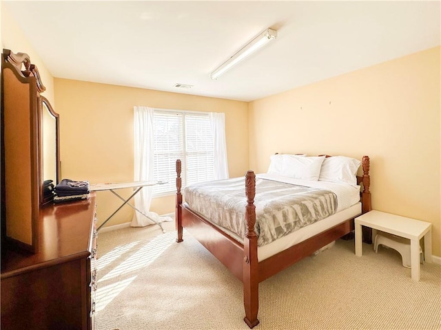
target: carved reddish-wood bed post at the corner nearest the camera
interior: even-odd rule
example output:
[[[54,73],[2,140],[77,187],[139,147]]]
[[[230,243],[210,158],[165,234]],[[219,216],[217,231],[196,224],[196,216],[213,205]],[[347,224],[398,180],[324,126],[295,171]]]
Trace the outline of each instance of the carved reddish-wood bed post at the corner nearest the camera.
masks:
[[[259,308],[259,279],[257,259],[257,235],[254,232],[256,223],[256,175],[252,170],[245,176],[245,193],[247,195],[247,208],[245,219],[247,228],[243,239],[243,303],[245,306],[245,318],[249,328],[258,325],[257,311]]]

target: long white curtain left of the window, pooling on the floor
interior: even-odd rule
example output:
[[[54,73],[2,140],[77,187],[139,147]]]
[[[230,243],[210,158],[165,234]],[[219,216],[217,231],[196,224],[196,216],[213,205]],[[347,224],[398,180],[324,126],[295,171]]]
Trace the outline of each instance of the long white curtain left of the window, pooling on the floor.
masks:
[[[154,109],[149,107],[134,107],[134,181],[153,180],[153,111]],[[167,219],[168,217],[159,217],[155,212],[150,212],[152,190],[152,186],[145,186],[135,195],[135,207],[144,214],[138,211],[134,212],[132,223],[130,224],[132,227],[143,227],[171,220]]]

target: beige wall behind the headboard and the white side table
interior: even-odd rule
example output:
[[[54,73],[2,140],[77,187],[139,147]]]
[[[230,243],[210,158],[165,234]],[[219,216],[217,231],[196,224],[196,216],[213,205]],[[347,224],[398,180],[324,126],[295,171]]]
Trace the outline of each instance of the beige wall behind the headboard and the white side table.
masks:
[[[250,102],[251,168],[276,152],[369,155],[373,208],[433,223],[441,256],[440,50]]]

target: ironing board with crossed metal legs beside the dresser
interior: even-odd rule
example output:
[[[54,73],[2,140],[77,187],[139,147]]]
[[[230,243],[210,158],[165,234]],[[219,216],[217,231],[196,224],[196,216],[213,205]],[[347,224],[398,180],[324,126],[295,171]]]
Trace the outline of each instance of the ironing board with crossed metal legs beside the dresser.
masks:
[[[163,181],[133,181],[133,182],[118,182],[118,183],[108,183],[108,184],[90,184],[90,186],[89,186],[90,187],[90,191],[109,190],[110,192],[112,192],[112,194],[114,194],[116,197],[121,199],[121,201],[123,201],[121,206],[119,206],[119,208],[117,208],[112,214],[110,214],[110,217],[105,219],[105,221],[103,223],[101,223],[101,225],[98,227],[97,230],[100,230],[101,227],[103,227],[103,225],[105,225],[105,223],[107,223],[107,221],[112,219],[112,217],[116,214],[116,212],[121,210],[121,208],[123,208],[123,206],[125,206],[125,204],[127,204],[128,206],[130,206],[134,210],[136,210],[136,211],[140,212],[141,214],[143,214],[143,216],[146,217],[147,219],[150,219],[151,221],[156,223],[156,225],[161,227],[163,232],[165,232],[165,230],[164,230],[163,226],[161,225],[161,223],[155,221],[154,219],[149,217],[147,214],[145,214],[143,211],[139,210],[139,208],[136,208],[134,205],[132,205],[132,203],[129,202],[130,199],[132,199],[138,192],[140,192],[143,187],[145,187],[145,186],[156,186],[156,184],[165,184],[165,183],[166,182],[163,182]],[[118,192],[114,191],[114,190],[118,190],[118,189],[127,189],[127,188],[133,188],[134,189],[134,192],[132,193],[132,195],[130,195],[130,197],[127,198],[127,199],[124,199],[123,197],[121,197],[121,195],[118,194]]]

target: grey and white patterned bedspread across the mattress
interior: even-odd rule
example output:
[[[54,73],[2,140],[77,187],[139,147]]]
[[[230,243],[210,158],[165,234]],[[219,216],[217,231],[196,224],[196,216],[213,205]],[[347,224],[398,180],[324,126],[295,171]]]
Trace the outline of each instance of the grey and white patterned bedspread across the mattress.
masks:
[[[184,198],[216,225],[245,236],[245,177],[189,186]],[[258,246],[263,246],[334,214],[337,197],[330,190],[256,178],[254,205]]]

